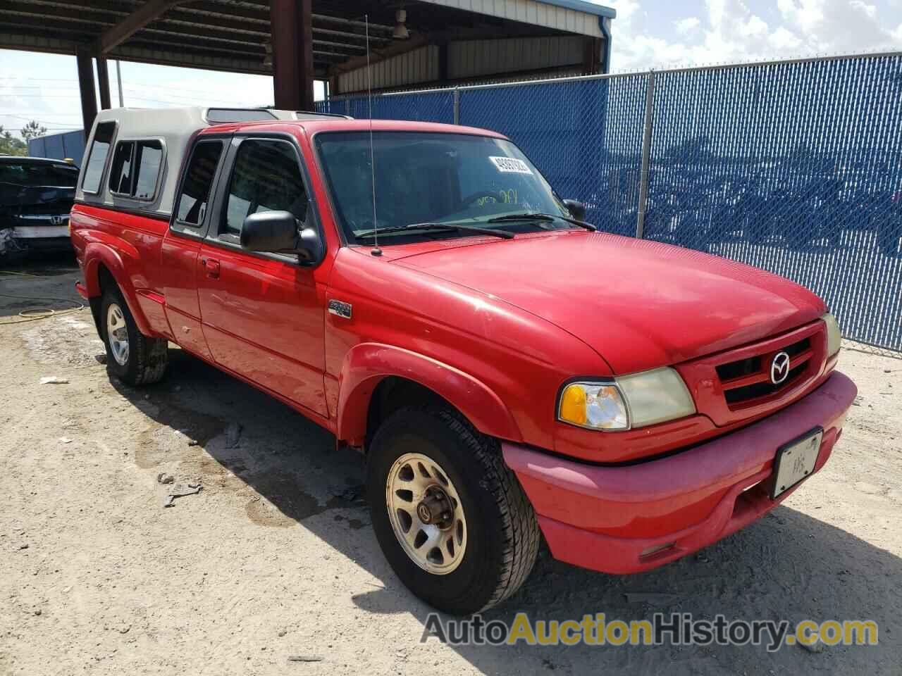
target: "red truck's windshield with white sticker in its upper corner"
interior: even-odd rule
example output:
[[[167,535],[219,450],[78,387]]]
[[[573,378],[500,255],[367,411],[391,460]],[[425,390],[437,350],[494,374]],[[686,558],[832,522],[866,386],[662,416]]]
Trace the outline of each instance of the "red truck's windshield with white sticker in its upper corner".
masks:
[[[345,235],[349,242],[363,243],[373,230],[370,133],[321,132],[316,145]],[[457,133],[373,132],[373,156],[380,230],[451,223],[511,232],[572,227],[557,218],[490,223],[503,215],[567,215],[545,178],[509,141]],[[474,234],[426,228],[384,237],[380,233],[379,241]]]

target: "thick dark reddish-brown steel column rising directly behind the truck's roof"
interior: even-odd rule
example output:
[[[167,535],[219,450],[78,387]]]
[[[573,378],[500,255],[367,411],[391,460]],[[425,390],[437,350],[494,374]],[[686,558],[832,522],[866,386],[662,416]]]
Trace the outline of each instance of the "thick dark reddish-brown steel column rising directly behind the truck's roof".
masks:
[[[276,108],[313,110],[311,0],[271,0],[270,25]]]

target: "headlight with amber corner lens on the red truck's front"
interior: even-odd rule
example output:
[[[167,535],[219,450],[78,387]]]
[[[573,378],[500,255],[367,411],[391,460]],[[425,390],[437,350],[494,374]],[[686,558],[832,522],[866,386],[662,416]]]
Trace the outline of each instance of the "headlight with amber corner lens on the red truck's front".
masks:
[[[568,383],[557,403],[558,420],[594,430],[628,430],[694,413],[686,383],[669,368]]]

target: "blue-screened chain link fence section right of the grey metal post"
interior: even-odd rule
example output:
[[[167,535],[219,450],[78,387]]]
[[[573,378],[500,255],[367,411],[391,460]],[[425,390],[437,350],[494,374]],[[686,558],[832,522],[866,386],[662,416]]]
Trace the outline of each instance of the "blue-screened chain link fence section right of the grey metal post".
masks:
[[[794,279],[902,350],[902,58],[655,79],[645,236]]]

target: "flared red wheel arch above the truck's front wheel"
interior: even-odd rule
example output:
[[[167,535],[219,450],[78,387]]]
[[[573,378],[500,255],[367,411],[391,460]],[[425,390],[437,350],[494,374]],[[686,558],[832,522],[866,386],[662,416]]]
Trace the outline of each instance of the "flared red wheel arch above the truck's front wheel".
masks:
[[[345,355],[338,377],[336,436],[361,445],[373,390],[390,376],[431,389],[463,413],[483,434],[521,440],[520,429],[501,398],[461,370],[400,347],[360,343]]]

